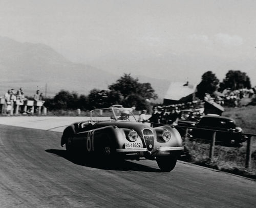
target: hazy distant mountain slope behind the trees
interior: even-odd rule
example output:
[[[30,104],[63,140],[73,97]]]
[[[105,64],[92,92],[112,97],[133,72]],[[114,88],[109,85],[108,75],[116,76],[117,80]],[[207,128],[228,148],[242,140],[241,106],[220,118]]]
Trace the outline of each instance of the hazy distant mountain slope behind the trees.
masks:
[[[20,43],[0,36],[0,95],[8,89],[23,87],[32,96],[38,88],[53,96],[59,90],[88,94],[93,88],[107,89],[119,77],[104,70],[73,63],[44,44]],[[136,75],[132,74],[136,77]],[[138,76],[140,82],[150,82],[162,100],[169,82]]]

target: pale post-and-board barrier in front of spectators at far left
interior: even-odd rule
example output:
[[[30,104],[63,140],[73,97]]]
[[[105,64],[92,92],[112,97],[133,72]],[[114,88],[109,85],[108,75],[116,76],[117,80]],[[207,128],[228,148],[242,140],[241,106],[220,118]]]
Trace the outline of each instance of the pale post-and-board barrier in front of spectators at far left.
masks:
[[[16,101],[14,102],[11,102],[11,104],[9,106],[11,106],[11,109],[10,109],[10,115],[18,115],[19,114],[19,110],[20,110],[20,107],[24,107],[23,111],[25,113],[28,112],[28,108],[30,108],[30,113],[31,115],[34,115],[34,112],[35,112],[35,108],[37,108],[37,114],[38,115],[47,115],[47,109],[45,107],[42,108],[42,106],[44,105],[44,100],[38,100],[38,101],[34,101],[34,100],[19,100],[17,99]],[[5,98],[1,98],[0,99],[0,110],[2,112],[2,114],[5,113],[5,105],[6,105],[6,102],[5,102]]]

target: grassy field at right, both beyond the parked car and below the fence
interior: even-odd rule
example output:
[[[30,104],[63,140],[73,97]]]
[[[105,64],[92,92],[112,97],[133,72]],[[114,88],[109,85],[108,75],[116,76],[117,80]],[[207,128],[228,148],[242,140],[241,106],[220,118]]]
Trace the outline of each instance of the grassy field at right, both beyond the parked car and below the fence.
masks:
[[[236,120],[245,133],[256,134],[256,107],[227,108],[223,116]],[[195,164],[256,178],[256,137],[252,137],[251,168],[245,168],[246,142],[242,147],[226,147],[216,145],[214,159],[209,160],[209,144],[196,140],[183,139],[185,155],[181,160]]]

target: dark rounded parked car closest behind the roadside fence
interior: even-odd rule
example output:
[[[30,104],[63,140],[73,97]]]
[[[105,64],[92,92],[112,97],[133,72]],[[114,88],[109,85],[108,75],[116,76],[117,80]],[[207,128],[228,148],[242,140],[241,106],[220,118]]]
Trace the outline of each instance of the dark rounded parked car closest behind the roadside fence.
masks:
[[[240,146],[247,139],[242,135],[242,128],[237,127],[233,119],[224,116],[203,116],[199,122],[191,123],[191,126],[225,131],[216,133],[216,142],[225,145]],[[212,133],[204,129],[189,129],[189,134],[193,138],[211,140]]]

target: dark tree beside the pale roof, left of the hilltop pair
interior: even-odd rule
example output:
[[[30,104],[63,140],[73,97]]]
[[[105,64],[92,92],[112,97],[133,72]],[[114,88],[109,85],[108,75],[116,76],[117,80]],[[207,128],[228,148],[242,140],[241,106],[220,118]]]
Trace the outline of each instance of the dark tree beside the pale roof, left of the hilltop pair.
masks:
[[[212,71],[207,71],[202,75],[202,81],[197,86],[196,96],[204,98],[205,93],[212,94],[218,89],[219,80]]]

